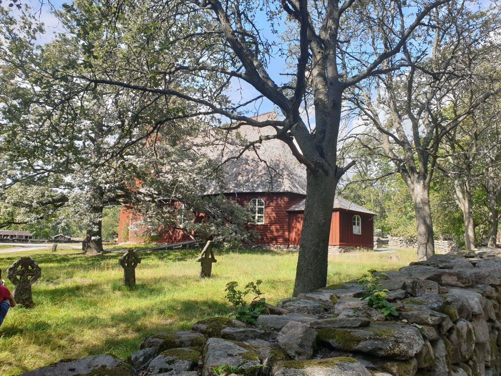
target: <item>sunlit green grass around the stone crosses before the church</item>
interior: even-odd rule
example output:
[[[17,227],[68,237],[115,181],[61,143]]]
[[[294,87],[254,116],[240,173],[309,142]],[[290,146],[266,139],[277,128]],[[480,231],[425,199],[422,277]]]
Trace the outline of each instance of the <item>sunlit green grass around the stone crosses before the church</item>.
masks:
[[[19,374],[60,359],[110,353],[125,359],[151,333],[188,329],[197,320],[226,315],[229,281],[263,280],[271,303],[291,296],[297,253],[263,250],[215,251],[213,278],[199,279],[199,249],[140,253],[137,287],[122,286],[121,254],[85,256],[61,247],[0,254],[0,268],[33,257],[42,278],[33,285],[32,309],[11,309],[0,327],[0,374]],[[398,255],[398,259],[394,256]],[[389,259],[389,256],[393,256]],[[415,260],[415,250],[354,253],[331,257],[328,283],[360,277],[368,269],[398,269]],[[5,275],[4,275],[5,278]],[[13,289],[10,281],[7,287]]]

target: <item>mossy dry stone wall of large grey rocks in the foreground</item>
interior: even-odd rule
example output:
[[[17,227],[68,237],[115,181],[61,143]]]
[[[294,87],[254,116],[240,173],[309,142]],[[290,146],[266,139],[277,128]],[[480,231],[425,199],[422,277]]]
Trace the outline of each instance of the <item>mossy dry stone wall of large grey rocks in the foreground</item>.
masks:
[[[283,299],[258,325],[213,317],[190,331],[150,335],[126,362],[97,355],[26,375],[498,375],[496,252],[435,255],[385,272],[387,299],[400,312],[391,320],[360,300],[355,280]]]

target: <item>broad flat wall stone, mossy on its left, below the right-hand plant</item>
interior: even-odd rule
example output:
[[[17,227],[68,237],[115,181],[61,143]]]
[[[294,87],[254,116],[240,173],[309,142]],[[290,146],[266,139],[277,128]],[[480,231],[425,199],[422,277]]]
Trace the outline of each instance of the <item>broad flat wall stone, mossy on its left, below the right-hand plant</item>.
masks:
[[[370,325],[365,328],[317,329],[318,340],[345,351],[406,360],[424,345],[420,332],[411,325]]]

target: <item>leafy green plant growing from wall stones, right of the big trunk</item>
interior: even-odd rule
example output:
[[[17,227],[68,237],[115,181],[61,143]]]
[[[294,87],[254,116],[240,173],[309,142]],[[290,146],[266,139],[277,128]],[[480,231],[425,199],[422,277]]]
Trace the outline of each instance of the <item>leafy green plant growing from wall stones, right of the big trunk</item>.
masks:
[[[362,278],[358,280],[358,284],[362,285],[362,289],[365,291],[365,295],[361,297],[360,300],[368,298],[367,305],[377,309],[384,317],[388,315],[398,316],[399,313],[395,309],[395,306],[386,300],[386,294],[390,291],[383,288],[381,284],[381,278],[386,279],[388,275],[381,273],[377,276],[374,273],[375,270],[369,270],[368,274],[364,274]]]

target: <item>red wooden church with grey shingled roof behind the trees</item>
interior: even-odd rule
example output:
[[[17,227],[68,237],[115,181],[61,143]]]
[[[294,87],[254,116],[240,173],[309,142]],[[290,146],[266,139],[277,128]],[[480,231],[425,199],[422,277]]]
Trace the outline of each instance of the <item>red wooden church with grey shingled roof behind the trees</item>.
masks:
[[[258,120],[266,120],[274,113],[258,115]],[[259,139],[261,135],[274,134],[271,127],[256,128],[242,126],[241,135],[248,141]],[[214,146],[210,155],[225,161],[239,148],[225,145],[221,152]],[[238,159],[223,164],[222,174],[208,181],[201,195],[224,194],[235,202],[250,204],[254,214],[254,229],[260,235],[256,243],[264,246],[287,248],[300,244],[303,213],[306,197],[306,169],[292,155],[289,146],[277,139],[263,141],[257,151],[246,151]],[[340,197],[332,208],[332,222],[329,237],[330,248],[350,249],[355,247],[373,248],[374,223],[376,213]],[[140,217],[122,208],[120,212],[120,241],[141,242],[146,229],[133,228]],[[128,232],[128,233],[127,233]],[[177,243],[191,237],[181,230],[165,229],[160,232],[159,243]]]

